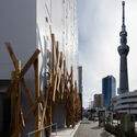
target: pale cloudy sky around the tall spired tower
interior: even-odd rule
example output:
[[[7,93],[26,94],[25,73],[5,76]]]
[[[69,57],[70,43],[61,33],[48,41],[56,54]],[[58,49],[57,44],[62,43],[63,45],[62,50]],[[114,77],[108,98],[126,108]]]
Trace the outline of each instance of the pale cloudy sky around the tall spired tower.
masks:
[[[125,0],[129,90],[137,90],[137,0]],[[113,75],[118,88],[122,0],[78,0],[79,64],[83,67],[83,106]]]

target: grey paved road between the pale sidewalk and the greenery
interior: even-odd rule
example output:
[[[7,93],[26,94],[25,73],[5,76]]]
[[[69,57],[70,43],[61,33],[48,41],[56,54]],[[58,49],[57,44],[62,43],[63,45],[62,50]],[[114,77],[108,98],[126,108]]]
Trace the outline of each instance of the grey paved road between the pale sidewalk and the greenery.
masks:
[[[114,137],[98,126],[98,122],[83,119],[73,137]]]

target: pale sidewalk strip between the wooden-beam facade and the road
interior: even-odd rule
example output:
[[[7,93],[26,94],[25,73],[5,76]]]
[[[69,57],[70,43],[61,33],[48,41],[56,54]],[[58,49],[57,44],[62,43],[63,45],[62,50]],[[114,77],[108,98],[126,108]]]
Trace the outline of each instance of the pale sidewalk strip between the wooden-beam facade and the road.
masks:
[[[80,125],[80,122],[75,126],[75,128],[65,128],[56,133],[52,133],[52,137],[73,137],[78,127]]]

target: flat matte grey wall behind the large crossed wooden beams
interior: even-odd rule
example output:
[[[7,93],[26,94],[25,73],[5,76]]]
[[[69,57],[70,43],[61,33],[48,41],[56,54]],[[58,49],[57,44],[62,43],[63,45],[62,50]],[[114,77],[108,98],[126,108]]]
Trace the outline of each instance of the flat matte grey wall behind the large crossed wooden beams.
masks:
[[[25,62],[36,45],[36,3],[34,0],[0,1],[0,79],[13,70],[4,42],[11,42],[16,56]]]

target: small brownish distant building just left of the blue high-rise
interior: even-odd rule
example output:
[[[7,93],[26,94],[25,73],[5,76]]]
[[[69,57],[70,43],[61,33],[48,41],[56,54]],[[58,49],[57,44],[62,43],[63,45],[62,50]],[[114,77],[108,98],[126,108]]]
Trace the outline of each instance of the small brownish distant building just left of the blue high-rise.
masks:
[[[94,107],[102,107],[103,106],[103,100],[102,100],[102,94],[94,94],[94,102],[93,106]]]

